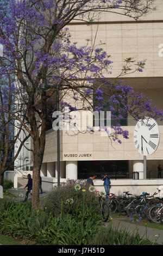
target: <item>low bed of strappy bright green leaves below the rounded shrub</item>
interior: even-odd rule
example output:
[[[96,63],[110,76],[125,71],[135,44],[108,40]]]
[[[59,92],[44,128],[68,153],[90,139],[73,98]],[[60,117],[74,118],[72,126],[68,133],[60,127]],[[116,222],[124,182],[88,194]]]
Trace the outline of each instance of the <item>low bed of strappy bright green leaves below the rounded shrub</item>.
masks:
[[[7,209],[0,211],[0,232],[36,239],[42,245],[86,245],[101,223],[100,216],[90,217],[95,209],[89,209],[90,214],[86,206],[84,211],[79,209],[79,216],[53,217],[40,209],[33,211],[28,202],[12,202]]]

